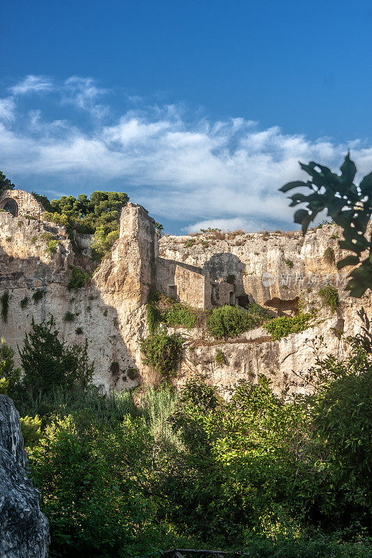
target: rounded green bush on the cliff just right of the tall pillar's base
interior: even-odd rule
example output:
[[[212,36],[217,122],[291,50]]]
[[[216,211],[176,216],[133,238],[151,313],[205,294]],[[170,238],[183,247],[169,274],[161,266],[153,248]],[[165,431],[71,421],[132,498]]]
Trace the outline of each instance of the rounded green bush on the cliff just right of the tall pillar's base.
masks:
[[[143,363],[153,367],[165,379],[174,376],[182,355],[183,339],[177,333],[154,333],[141,341]]]

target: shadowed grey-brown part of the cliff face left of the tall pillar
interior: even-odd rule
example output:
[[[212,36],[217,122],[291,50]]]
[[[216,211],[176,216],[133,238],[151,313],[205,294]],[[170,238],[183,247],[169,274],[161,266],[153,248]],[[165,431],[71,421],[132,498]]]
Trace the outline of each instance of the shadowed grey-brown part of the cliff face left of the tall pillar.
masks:
[[[77,263],[78,259],[74,257],[73,261]],[[81,344],[87,338],[98,384],[107,380],[107,389],[133,386],[139,376],[121,336],[117,310],[103,301],[94,284],[68,289],[70,271],[64,264],[63,253],[58,252],[45,263],[36,256],[13,258],[0,246],[0,296],[6,291],[9,294],[6,321],[0,317],[0,337],[13,346],[17,357],[17,345],[22,347],[32,317],[43,322],[53,316],[61,338],[68,344]],[[32,295],[38,291],[36,301]],[[27,304],[22,308],[20,302],[25,299]],[[110,335],[106,336],[105,331]],[[103,355],[101,362],[97,354]]]

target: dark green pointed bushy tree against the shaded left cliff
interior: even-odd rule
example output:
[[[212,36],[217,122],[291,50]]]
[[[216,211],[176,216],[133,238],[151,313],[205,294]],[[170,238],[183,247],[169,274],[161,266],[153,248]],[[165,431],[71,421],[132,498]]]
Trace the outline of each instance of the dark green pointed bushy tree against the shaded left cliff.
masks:
[[[66,389],[72,389],[75,384],[87,386],[93,374],[87,348],[87,341],[82,346],[70,347],[61,342],[53,318],[41,324],[36,324],[33,318],[31,331],[19,349],[24,369],[22,389],[26,396],[36,400],[59,386]]]

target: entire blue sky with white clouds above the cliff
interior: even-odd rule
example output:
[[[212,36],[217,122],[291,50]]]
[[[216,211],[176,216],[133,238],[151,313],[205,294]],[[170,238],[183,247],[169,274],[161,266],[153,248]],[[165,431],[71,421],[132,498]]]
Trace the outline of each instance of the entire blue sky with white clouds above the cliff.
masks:
[[[297,160],[372,169],[368,1],[2,3],[0,168],[169,232],[291,226]]]

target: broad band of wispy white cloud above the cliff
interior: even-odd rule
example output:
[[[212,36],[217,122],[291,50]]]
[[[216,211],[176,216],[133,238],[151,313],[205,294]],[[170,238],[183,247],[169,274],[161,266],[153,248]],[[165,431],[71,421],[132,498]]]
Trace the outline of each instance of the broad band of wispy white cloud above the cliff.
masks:
[[[28,83],[36,84],[31,77]],[[241,118],[211,121],[182,105],[148,107],[140,100],[115,119],[114,107],[101,102],[105,90],[81,77],[50,91],[54,119],[46,119],[41,103],[22,114],[14,93],[0,103],[0,115],[1,106],[4,114],[8,107],[13,118],[0,124],[0,165],[25,179],[50,178],[57,190],[77,179],[89,188],[125,184],[136,202],[186,229],[289,227],[292,210],[278,188],[305,176],[298,160],[337,169],[351,148],[361,174],[372,169],[372,146],[362,140],[312,141],[278,126],[262,130]],[[61,103],[70,105],[68,121],[59,119]],[[92,126],[82,123],[81,110]]]

